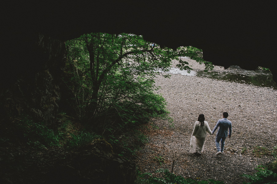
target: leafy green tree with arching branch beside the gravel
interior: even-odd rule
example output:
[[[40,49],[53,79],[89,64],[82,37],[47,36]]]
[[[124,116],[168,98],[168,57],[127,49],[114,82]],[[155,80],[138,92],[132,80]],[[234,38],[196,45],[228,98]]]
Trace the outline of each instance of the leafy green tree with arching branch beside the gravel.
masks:
[[[160,69],[167,72],[173,59],[180,60],[181,69],[190,69],[182,56],[196,58],[208,69],[212,66],[193,47],[174,51],[132,34],[91,33],[66,45],[73,76],[67,85],[75,97],[74,109],[85,121],[105,117],[109,124],[136,123],[165,114],[164,99],[154,93]]]

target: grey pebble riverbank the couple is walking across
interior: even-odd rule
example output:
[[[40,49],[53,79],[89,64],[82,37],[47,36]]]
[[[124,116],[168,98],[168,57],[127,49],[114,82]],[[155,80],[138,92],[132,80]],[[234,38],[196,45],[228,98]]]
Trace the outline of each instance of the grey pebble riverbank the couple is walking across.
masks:
[[[186,59],[194,70],[205,67]],[[173,63],[173,67],[176,62]],[[215,71],[224,70],[216,66]],[[174,173],[184,178],[214,179],[225,183],[242,183],[241,174],[255,173],[259,164],[266,165],[273,156],[255,156],[255,146],[272,150],[277,146],[277,91],[248,84],[187,75],[157,76],[157,91],[167,101],[172,123],[155,120],[157,130],[148,131],[149,143],[137,153],[137,167],[145,173],[158,168],[171,170],[172,155],[180,155]],[[215,156],[215,134],[207,136],[204,153],[189,153],[194,122],[203,113],[211,130],[228,112],[232,137],[225,141],[224,153]],[[174,125],[174,126],[172,126]],[[164,160],[164,161],[163,161]]]

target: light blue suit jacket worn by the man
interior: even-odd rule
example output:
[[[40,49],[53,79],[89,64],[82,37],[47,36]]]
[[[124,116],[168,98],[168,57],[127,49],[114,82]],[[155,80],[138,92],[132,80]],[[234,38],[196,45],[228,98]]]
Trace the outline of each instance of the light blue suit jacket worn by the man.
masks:
[[[230,120],[227,120],[227,118],[222,118],[222,119],[218,120],[212,133],[214,133],[216,131],[217,127],[219,127],[217,134],[216,134],[217,136],[227,137],[228,136],[228,128],[229,128],[229,135],[231,136],[232,122]]]

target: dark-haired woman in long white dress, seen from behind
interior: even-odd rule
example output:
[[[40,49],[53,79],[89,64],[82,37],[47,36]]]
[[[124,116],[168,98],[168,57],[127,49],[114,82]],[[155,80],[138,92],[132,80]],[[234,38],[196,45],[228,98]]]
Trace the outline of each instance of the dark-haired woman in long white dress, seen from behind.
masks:
[[[205,121],[204,114],[199,114],[190,138],[190,153],[203,153],[207,133],[212,135],[208,122]]]

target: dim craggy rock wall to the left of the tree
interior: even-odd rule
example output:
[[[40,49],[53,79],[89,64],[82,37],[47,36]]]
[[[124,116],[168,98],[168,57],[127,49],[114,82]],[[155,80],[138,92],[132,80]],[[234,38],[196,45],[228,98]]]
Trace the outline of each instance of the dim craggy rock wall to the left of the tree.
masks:
[[[41,62],[41,69],[19,76],[15,83],[2,89],[1,114],[3,117],[28,114],[35,121],[55,128],[65,45],[41,34],[37,36],[36,45],[39,54],[34,54],[39,55],[37,62]]]

